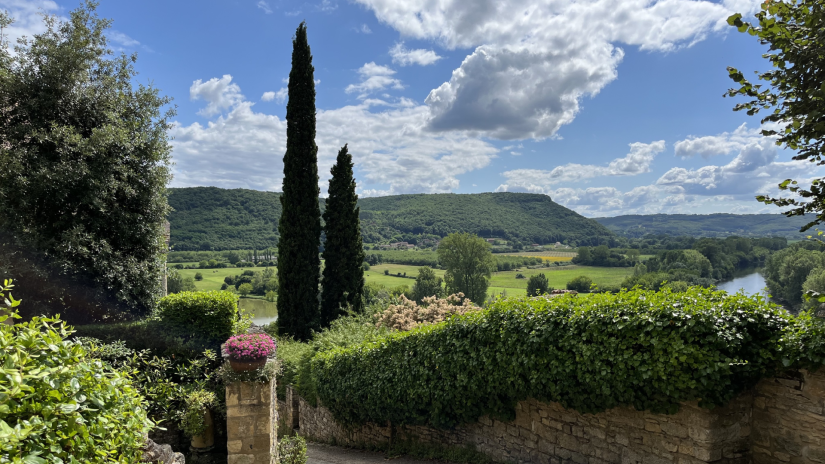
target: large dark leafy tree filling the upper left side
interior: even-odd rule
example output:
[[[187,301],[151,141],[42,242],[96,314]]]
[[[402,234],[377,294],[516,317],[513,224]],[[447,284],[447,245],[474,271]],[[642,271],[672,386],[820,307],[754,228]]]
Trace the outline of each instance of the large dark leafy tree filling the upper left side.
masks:
[[[0,47],[0,228],[147,313],[164,269],[173,112],[133,85],[137,56],[108,49],[96,7],[46,16],[14,54]]]

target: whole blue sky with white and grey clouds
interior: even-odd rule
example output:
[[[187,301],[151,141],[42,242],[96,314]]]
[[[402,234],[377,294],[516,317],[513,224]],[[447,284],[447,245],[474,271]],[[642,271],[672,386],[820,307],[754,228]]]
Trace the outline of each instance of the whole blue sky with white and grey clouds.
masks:
[[[11,39],[79,1],[0,0]],[[279,191],[292,37],[306,21],[322,195],[348,144],[361,197],[532,192],[588,217],[776,213],[818,168],[734,112],[766,47],[758,0],[102,0],[136,81],[172,97],[171,187]]]

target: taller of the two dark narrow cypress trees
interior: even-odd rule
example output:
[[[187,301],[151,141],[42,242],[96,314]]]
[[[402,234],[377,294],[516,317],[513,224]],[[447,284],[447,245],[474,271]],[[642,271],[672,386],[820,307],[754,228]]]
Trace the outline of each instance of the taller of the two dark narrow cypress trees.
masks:
[[[281,220],[278,223],[278,329],[307,340],[321,323],[318,281],[321,210],[318,147],[315,145],[315,81],[306,23],[292,39],[292,70],[286,105]]]

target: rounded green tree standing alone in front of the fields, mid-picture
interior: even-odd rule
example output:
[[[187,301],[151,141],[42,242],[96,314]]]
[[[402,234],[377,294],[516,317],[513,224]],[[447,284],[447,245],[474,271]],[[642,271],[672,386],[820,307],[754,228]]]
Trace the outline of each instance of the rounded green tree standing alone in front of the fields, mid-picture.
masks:
[[[447,272],[447,293],[463,293],[477,305],[487,299],[487,287],[495,267],[490,244],[475,234],[454,233],[438,245],[438,259]]]

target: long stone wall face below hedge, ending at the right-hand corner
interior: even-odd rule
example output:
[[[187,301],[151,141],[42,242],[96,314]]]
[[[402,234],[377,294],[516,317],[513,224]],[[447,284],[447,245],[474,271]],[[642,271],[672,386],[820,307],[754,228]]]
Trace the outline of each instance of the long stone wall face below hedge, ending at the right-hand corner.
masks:
[[[520,402],[516,419],[482,417],[453,430],[368,424],[347,429],[323,407],[299,398],[299,433],[347,445],[416,440],[443,446],[473,445],[497,461],[513,463],[747,464],[750,462],[750,396],[708,411],[696,404],[675,415],[616,408],[580,414],[558,403]]]

